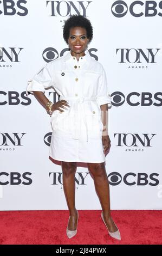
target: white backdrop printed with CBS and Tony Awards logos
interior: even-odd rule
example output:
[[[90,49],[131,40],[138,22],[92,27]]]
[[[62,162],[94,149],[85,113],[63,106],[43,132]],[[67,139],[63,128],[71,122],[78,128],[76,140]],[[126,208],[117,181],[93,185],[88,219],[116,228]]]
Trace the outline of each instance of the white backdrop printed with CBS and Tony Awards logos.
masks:
[[[50,117],[27,81],[68,46],[70,15],[92,22],[90,55],[107,73],[112,209],[161,209],[162,1],[0,1],[0,210],[68,209],[60,163],[49,157]],[[53,89],[46,91],[57,101]],[[66,154],[64,152],[63,154]],[[78,163],[76,208],[101,209],[87,166]]]

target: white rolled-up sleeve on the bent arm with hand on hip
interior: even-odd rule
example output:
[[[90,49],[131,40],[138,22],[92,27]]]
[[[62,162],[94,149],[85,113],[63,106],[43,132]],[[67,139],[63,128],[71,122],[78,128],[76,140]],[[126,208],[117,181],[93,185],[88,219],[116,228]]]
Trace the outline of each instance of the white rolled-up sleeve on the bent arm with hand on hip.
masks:
[[[45,89],[53,85],[53,80],[50,75],[49,66],[46,65],[34,75],[33,79],[27,83],[26,94],[33,91],[45,92]]]

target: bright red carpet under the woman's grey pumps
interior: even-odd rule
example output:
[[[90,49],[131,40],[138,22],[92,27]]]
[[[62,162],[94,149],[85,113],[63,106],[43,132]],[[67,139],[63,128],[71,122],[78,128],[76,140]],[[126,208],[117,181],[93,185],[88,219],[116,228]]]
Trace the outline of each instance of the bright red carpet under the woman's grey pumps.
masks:
[[[68,211],[0,211],[1,245],[162,244],[162,211],[112,211],[121,241],[113,240],[99,210],[79,210],[76,236],[68,239]]]

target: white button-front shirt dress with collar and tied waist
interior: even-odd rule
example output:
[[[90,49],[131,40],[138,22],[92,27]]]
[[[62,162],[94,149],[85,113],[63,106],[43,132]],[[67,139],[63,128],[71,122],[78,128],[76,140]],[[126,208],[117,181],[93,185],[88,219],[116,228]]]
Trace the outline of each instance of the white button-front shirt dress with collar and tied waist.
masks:
[[[49,156],[66,162],[105,162],[100,106],[111,106],[105,70],[88,51],[79,58],[70,51],[49,62],[28,82],[28,92],[53,87],[70,107],[51,114]]]

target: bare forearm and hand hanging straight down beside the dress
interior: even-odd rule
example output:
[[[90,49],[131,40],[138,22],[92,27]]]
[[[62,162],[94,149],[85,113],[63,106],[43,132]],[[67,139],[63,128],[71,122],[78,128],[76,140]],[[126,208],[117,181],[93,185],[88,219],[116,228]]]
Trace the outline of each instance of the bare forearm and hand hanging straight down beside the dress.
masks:
[[[102,144],[103,144],[103,151],[106,153],[108,150],[111,140],[108,136],[108,106],[107,104],[101,105],[101,118],[103,123],[103,130],[102,130]]]

